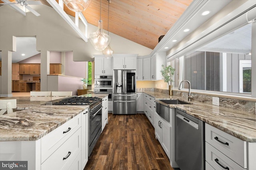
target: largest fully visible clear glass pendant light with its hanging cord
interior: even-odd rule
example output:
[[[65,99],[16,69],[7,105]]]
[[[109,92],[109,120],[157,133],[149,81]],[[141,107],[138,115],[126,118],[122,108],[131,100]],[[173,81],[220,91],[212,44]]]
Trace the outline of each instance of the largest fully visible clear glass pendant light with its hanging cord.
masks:
[[[89,35],[90,42],[92,46],[98,50],[102,51],[110,43],[110,36],[103,32],[103,21],[101,20],[101,0],[100,0],[100,20],[98,20],[98,30]]]

